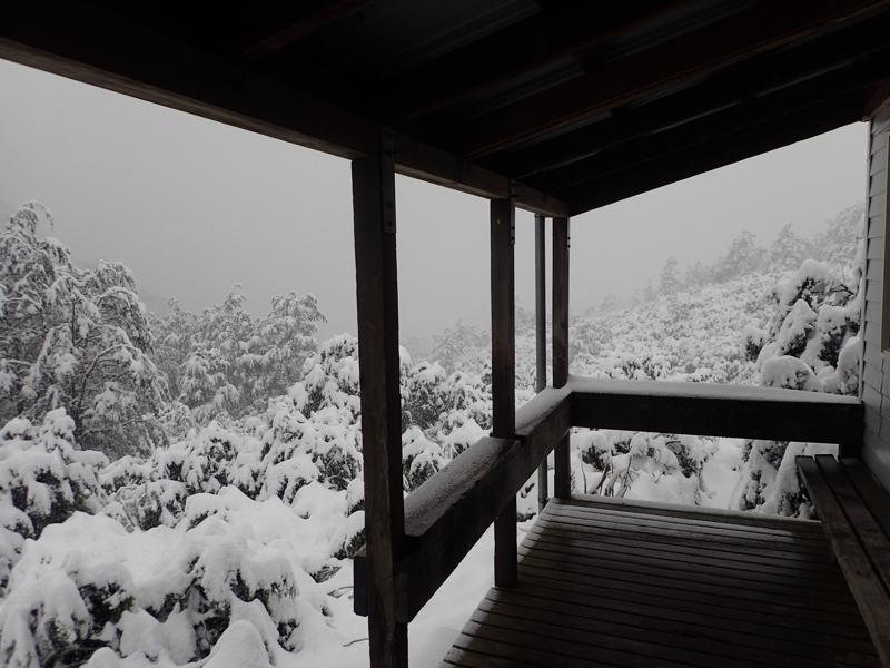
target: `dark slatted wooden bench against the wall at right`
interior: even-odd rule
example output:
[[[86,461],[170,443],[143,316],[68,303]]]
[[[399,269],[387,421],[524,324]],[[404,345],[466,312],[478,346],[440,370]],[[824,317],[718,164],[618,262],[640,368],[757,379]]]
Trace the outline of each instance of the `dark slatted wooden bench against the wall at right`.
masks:
[[[798,471],[883,666],[890,666],[890,493],[858,460],[799,456]]]

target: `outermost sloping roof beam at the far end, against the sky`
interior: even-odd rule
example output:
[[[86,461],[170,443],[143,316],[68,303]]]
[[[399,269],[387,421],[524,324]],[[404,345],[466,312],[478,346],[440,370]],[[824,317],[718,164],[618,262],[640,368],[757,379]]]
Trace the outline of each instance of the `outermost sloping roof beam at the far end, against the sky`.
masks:
[[[560,193],[573,216],[861,120],[857,92]]]

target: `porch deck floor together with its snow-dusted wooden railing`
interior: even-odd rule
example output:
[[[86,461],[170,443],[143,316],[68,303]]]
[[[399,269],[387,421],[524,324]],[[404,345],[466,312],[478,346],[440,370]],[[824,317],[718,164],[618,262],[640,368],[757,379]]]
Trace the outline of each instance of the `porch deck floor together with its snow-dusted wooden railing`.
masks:
[[[517,412],[515,438],[482,439],[405,499],[397,619],[415,617],[572,426],[837,443],[856,456],[862,424],[849,396],[570,376]],[[567,475],[557,446],[562,499],[515,556],[496,530],[497,586],[445,665],[880,665],[820,522],[571,498]],[[362,554],[355,573],[367,613]]]

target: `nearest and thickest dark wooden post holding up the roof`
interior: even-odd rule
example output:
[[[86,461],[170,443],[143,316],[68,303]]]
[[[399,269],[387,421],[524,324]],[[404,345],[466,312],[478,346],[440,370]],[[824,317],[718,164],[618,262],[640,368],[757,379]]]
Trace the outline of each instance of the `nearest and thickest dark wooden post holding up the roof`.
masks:
[[[365,463],[368,641],[372,668],[407,668],[408,629],[396,621],[394,563],[405,532],[393,136],[353,160],[362,450]]]

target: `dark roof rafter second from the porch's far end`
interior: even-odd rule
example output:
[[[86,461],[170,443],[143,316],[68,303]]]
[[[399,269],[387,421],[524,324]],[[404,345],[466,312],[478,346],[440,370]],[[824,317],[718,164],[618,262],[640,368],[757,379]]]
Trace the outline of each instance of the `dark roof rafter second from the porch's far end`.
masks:
[[[857,59],[870,58],[873,70],[880,71],[887,48],[890,18],[868,21],[854,31],[844,31],[813,40],[781,53],[767,53],[751,61],[718,72],[689,90],[657,98],[629,109],[619,108],[601,121],[525,148],[498,154],[485,164],[513,178],[527,178],[542,171],[564,167],[614,149],[627,141],[654,135],[691,121],[699,122],[735,105],[756,101],[761,96],[789,87],[819,81],[823,95],[849,89],[849,78],[839,81],[837,73],[861,72]],[[851,68],[852,66],[852,68]],[[861,76],[861,75],[860,75]],[[832,88],[834,87],[834,88]],[[564,188],[563,188],[564,189]]]

